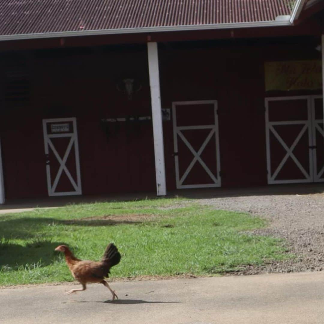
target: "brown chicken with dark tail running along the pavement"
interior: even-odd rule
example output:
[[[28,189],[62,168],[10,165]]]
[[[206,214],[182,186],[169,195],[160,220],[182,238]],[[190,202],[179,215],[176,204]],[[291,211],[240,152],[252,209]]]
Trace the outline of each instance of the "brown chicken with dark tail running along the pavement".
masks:
[[[75,258],[72,252],[66,245],[59,245],[55,251],[61,251],[65,254],[66,263],[73,275],[73,277],[82,284],[82,288],[72,289],[67,294],[75,293],[76,291],[86,290],[87,283],[100,283],[105,285],[112,294],[112,300],[115,297],[118,299],[115,292],[109,287],[104,277],[108,277],[110,268],[119,263],[121,255],[113,243],[110,243],[101,261],[88,261]]]

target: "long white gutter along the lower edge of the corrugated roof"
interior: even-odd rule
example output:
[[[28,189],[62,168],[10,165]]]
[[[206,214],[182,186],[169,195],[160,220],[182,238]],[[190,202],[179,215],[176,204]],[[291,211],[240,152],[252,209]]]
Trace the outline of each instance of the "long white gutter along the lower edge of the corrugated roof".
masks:
[[[303,1],[303,0],[301,0],[301,1]],[[238,22],[238,23],[226,23],[226,24],[99,29],[99,30],[63,31],[63,32],[52,32],[52,33],[16,34],[16,35],[0,36],[0,41],[30,40],[30,39],[40,39],[40,38],[77,37],[77,36],[135,34],[135,33],[156,33],[156,32],[170,32],[170,31],[280,27],[280,26],[291,26],[291,22],[290,22],[289,18],[290,18],[290,16],[278,16],[276,18],[276,20]]]

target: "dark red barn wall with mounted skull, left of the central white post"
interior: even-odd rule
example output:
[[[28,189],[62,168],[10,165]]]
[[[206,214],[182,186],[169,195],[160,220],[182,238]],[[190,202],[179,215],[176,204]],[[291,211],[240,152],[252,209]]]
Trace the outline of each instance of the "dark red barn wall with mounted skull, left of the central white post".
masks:
[[[101,124],[106,118],[151,115],[145,51],[34,52],[29,69],[30,102],[1,120],[7,199],[47,196],[45,118],[76,117],[84,194],[154,190],[151,122],[110,123],[109,137]],[[132,100],[116,87],[128,77],[142,87]]]

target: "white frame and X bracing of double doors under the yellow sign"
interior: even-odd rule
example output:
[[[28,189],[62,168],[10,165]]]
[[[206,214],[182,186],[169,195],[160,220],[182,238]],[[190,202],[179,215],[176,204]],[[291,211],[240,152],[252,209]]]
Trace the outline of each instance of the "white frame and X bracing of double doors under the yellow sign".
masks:
[[[319,179],[324,172],[324,168],[316,175],[316,150],[309,149],[309,173],[303,168],[298,159],[293,154],[295,146],[298,144],[301,137],[308,131],[308,146],[315,146],[315,128],[324,137],[324,132],[320,130],[319,123],[323,120],[315,120],[315,106],[314,100],[316,98],[322,98],[322,96],[291,96],[291,97],[270,97],[265,98],[265,124],[266,124],[266,150],[267,150],[267,170],[268,170],[268,184],[275,183],[302,183],[302,182],[313,182],[313,181],[324,181],[324,179]],[[269,102],[271,101],[284,101],[284,100],[306,100],[307,101],[307,120],[296,120],[296,121],[269,121]],[[293,144],[288,147],[280,135],[276,132],[273,126],[276,125],[303,125],[303,128],[299,132],[298,136],[295,138]],[[276,170],[271,174],[271,151],[270,151],[270,132],[276,137],[278,142],[286,150],[286,154],[282,161],[279,163]],[[276,180],[278,173],[284,166],[286,160],[291,157],[295,162],[296,166],[305,176],[305,179],[289,179],[289,180]]]

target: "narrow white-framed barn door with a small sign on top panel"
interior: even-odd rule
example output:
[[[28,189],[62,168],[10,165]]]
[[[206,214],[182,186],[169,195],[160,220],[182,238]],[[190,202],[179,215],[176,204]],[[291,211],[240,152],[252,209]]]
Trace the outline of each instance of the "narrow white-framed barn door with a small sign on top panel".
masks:
[[[82,191],[76,119],[44,119],[43,133],[48,195],[80,195]]]

